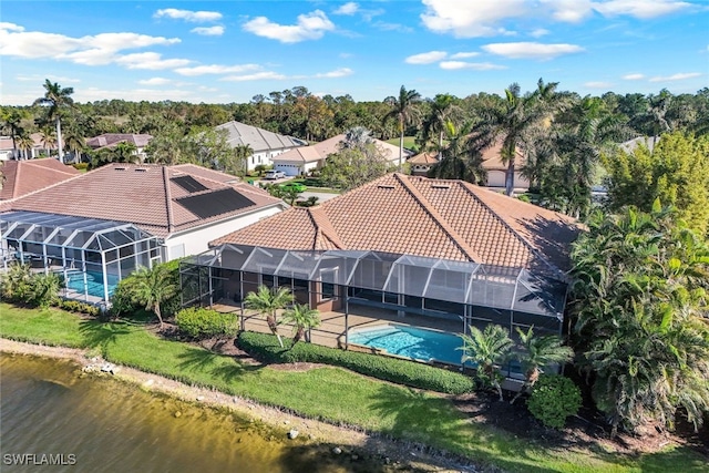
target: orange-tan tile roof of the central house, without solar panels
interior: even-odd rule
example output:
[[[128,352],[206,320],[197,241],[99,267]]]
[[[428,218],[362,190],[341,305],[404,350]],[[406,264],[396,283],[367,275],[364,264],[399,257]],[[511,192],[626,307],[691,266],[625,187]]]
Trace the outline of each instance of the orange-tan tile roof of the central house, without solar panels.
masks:
[[[535,269],[569,268],[576,222],[462,181],[388,174],[317,207],[290,208],[210,243],[360,249]]]

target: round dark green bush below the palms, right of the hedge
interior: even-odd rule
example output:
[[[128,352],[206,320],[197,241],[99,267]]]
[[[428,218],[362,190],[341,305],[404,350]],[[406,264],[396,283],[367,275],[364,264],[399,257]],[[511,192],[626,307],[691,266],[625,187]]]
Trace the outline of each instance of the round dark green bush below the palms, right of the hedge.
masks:
[[[566,418],[578,412],[580,403],[580,390],[571,379],[561,374],[542,374],[532,389],[527,408],[544,425],[561,429]]]

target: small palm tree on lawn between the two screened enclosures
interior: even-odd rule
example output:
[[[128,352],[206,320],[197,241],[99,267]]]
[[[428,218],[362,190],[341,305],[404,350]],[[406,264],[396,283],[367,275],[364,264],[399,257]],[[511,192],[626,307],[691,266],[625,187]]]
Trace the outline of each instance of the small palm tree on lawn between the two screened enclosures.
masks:
[[[169,269],[165,265],[138,268],[130,277],[129,291],[135,304],[145,306],[145,310],[152,310],[160,320],[160,328],[163,328],[163,316],[161,305],[177,294],[177,286],[174,284]]]

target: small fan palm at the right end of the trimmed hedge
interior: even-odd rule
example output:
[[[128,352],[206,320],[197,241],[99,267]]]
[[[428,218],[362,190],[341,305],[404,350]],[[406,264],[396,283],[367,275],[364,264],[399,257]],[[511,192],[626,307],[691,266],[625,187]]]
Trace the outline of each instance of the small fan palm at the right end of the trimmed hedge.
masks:
[[[500,364],[505,362],[514,343],[507,330],[494,323],[485,327],[484,331],[471,326],[470,336],[461,333],[460,337],[463,340],[463,362],[473,361],[477,367],[477,379],[483,385],[495,388],[502,401]]]

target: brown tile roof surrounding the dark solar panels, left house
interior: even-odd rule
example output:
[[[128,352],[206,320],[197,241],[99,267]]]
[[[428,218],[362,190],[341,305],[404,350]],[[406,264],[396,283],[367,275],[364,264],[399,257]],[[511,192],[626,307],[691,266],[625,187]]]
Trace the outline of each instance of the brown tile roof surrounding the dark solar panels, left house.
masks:
[[[177,182],[188,176],[192,192]],[[174,181],[177,178],[177,182]],[[189,179],[189,183],[193,181]],[[281,206],[282,200],[235,177],[195,165],[162,166],[157,164],[110,164],[43,191],[0,204],[0,212],[31,210],[127,222],[158,237],[219,222],[259,208]],[[201,217],[199,209],[188,208],[184,197],[205,196],[217,199],[225,189],[234,189],[253,204]],[[213,206],[213,207],[214,207]]]

